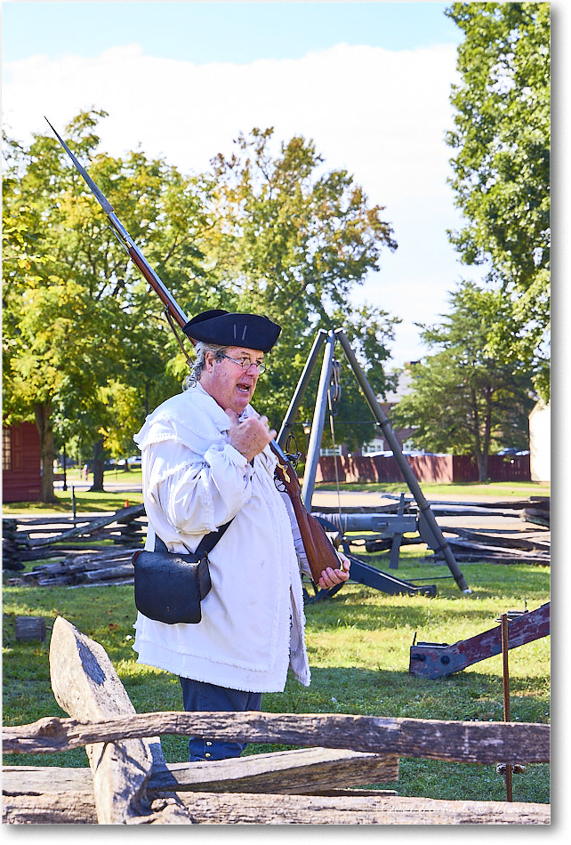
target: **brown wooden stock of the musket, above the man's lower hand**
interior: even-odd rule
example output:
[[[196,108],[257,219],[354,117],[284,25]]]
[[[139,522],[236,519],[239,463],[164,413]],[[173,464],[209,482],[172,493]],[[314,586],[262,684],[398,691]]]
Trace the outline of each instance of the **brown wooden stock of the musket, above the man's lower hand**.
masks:
[[[271,446],[271,443],[270,443]],[[327,567],[342,568],[337,552],[326,535],[325,528],[318,519],[311,516],[302,502],[302,490],[299,479],[291,463],[285,462],[283,457],[274,449],[277,455],[277,478],[286,487],[286,493],[294,507],[295,519],[300,527],[303,548],[308,559],[313,583],[318,586],[321,573]]]

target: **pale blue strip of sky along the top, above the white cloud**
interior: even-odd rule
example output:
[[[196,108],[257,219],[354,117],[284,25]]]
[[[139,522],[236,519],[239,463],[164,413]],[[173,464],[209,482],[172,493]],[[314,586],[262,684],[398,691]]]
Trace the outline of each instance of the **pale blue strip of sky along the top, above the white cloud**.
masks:
[[[3,4],[3,60],[96,56],[136,42],[149,55],[197,64],[299,59],[334,44],[390,50],[458,44],[443,3],[26,3]],[[157,26],[157,14],[160,26]]]

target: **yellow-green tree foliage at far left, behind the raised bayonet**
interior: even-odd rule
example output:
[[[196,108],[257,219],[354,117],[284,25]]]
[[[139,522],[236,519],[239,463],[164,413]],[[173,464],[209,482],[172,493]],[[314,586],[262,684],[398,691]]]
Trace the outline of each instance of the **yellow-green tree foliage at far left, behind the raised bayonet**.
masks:
[[[201,284],[205,186],[140,151],[96,155],[103,115],[76,117],[69,146],[91,162],[94,180],[180,296]],[[36,419],[42,499],[53,501],[54,436],[92,439],[93,489],[102,489],[105,439],[124,422],[112,413],[109,384],[161,401],[173,392],[173,338],[58,142],[36,135],[29,149],[8,141],[4,150],[4,420]]]

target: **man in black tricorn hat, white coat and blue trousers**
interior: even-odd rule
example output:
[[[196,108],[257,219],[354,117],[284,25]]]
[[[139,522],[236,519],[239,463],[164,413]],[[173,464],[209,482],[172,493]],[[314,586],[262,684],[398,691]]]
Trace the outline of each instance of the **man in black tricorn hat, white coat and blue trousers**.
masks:
[[[185,390],[134,438],[146,548],[158,535],[169,551],[194,551],[203,535],[233,521],[209,555],[212,589],[201,622],[169,625],[140,613],[133,648],[138,662],[179,676],[185,710],[259,711],[261,693],[282,691],[289,668],[310,684],[300,575],[310,569],[292,504],[274,480],[276,431],[250,405],[280,327],[209,310],[184,332],[197,342]],[[349,578],[350,561],[340,559],[321,573],[321,587]],[[244,747],[191,737],[189,759],[237,757]]]

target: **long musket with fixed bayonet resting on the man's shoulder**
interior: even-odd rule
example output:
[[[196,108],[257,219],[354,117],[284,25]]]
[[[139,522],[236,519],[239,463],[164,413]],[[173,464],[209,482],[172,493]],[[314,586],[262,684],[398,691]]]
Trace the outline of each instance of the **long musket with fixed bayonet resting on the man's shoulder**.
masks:
[[[47,117],[45,118],[45,120],[49,125],[50,129],[52,130],[52,133],[55,135],[58,141],[60,141],[60,144],[63,149],[65,149],[65,151],[68,153],[68,156],[73,162],[73,164],[76,166],[76,169],[79,171],[79,173],[81,173],[87,187],[91,190],[93,196],[101,205],[103,211],[107,214],[107,218],[109,220],[109,223],[111,224],[111,229],[117,236],[119,243],[125,248],[125,252],[132,259],[135,267],[137,267],[137,269],[141,272],[141,276],[147,282],[149,282],[149,285],[155,291],[158,298],[165,305],[167,317],[170,315],[183,329],[184,326],[186,326],[186,324],[189,322],[189,318],[181,309],[181,306],[178,304],[178,302],[176,302],[173,297],[173,294],[170,293],[163,281],[157,276],[155,270],[152,269],[145,256],[141,253],[139,247],[133,241],[133,237],[131,237],[129,232],[125,229],[123,223],[118,219],[117,214],[113,210],[113,206],[109,202],[109,199],[105,197],[104,194],[101,192],[101,189],[97,187],[95,182],[92,180],[92,177],[89,175],[89,173],[87,173],[85,168],[79,164],[77,158],[68,148],[66,142],[55,131]],[[172,321],[169,320],[169,322],[171,322],[171,326],[173,327],[174,331]],[[177,340],[179,340],[178,336]],[[192,340],[192,338],[190,340]],[[298,525],[300,527],[300,533],[302,535],[303,548],[305,550],[308,563],[310,565],[311,577],[313,579],[313,583],[315,583],[317,586],[321,573],[324,569],[326,569],[327,567],[340,569],[342,568],[342,562],[338,558],[337,553],[334,550],[333,544],[329,541],[329,538],[326,535],[325,528],[321,525],[318,519],[308,513],[305,508],[305,505],[302,502],[300,483],[295,473],[294,465],[291,463],[282,448],[277,445],[275,440],[270,440],[269,447],[271,448],[274,455],[276,455],[277,457],[277,479],[286,488],[286,493],[289,496],[294,507],[295,517],[297,519]]]

